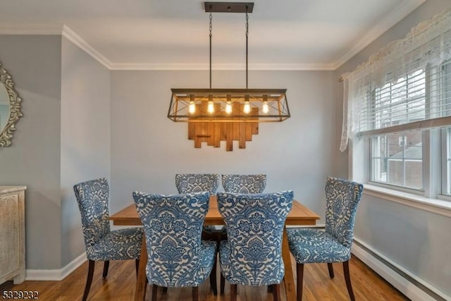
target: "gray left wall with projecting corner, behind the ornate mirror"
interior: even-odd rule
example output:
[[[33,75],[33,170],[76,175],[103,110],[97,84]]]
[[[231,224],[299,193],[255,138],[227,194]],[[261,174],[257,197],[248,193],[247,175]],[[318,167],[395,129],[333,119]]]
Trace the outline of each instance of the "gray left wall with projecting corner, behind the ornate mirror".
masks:
[[[0,35],[0,62],[23,99],[0,185],[26,185],[26,268],[85,252],[73,185],[109,178],[110,71],[61,36]]]

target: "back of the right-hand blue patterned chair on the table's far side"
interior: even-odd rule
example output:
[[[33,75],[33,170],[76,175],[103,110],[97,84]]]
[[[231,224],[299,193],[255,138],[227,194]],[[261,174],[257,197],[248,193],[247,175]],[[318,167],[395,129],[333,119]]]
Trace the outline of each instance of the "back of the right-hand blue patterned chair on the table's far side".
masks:
[[[266,175],[223,175],[226,192],[261,193],[266,187]]]

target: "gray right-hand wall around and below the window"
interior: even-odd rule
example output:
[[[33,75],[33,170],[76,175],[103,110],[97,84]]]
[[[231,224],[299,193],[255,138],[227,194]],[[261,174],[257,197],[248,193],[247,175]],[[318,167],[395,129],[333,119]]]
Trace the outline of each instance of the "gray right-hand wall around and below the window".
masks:
[[[338,150],[342,123],[342,85],[338,82],[340,75],[357,68],[359,63],[367,61],[371,54],[389,42],[404,38],[419,22],[448,8],[451,8],[449,0],[426,1],[336,70],[334,83],[337,123],[333,147],[335,174],[345,178],[348,175],[347,152],[340,153]],[[444,216],[364,194],[357,213],[355,237],[451,296],[451,263],[447,260],[451,254],[450,228],[451,219]]]

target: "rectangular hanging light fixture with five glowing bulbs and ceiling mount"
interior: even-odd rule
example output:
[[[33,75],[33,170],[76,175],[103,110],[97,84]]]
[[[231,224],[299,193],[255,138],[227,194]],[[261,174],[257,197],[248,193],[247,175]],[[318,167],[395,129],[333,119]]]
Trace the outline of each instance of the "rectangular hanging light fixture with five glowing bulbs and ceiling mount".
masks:
[[[168,118],[175,122],[280,122],[290,118],[286,89],[249,89],[247,76],[248,13],[253,2],[204,2],[210,14],[210,87],[209,89],[171,89]],[[246,88],[211,88],[211,13],[245,13],[246,15]]]

